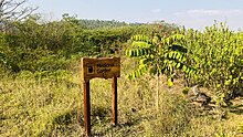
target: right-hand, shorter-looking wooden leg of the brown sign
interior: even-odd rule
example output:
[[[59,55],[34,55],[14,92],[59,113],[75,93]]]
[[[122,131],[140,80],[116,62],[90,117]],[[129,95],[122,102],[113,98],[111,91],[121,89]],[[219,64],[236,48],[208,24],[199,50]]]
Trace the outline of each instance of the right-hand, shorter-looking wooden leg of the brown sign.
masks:
[[[113,77],[113,124],[117,124],[117,77]]]

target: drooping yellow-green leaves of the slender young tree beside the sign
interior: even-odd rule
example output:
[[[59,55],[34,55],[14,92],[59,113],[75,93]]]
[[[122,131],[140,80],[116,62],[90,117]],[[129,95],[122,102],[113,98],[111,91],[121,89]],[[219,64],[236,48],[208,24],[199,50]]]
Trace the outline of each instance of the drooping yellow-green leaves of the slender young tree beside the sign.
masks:
[[[146,35],[134,35],[133,49],[126,51],[130,57],[139,57],[138,70],[128,75],[128,78],[135,78],[145,72],[152,75],[167,75],[168,85],[172,85],[175,68],[183,70],[187,74],[196,74],[197,70],[188,66],[184,48],[184,36],[172,34],[162,36],[155,33],[151,39]]]

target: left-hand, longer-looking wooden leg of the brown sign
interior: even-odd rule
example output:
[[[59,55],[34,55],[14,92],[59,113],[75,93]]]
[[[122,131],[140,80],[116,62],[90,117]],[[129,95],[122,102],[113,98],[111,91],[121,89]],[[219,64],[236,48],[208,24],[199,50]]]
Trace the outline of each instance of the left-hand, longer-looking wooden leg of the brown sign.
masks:
[[[89,81],[84,82],[84,128],[86,136],[91,136],[91,94]]]

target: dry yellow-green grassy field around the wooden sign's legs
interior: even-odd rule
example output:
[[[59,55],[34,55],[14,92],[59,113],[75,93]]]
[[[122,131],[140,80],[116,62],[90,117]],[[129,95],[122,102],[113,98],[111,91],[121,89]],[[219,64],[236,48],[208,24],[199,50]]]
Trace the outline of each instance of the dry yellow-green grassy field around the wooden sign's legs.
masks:
[[[77,63],[78,64],[78,63]],[[165,77],[125,78],[134,62],[122,60],[118,78],[118,125],[112,124],[109,80],[91,81],[92,134],[94,136],[241,137],[243,99],[231,107],[203,108],[183,95],[183,82],[169,88]],[[34,77],[22,72],[0,81],[0,136],[84,136],[83,87],[78,65],[72,73]],[[156,92],[159,89],[159,108]]]

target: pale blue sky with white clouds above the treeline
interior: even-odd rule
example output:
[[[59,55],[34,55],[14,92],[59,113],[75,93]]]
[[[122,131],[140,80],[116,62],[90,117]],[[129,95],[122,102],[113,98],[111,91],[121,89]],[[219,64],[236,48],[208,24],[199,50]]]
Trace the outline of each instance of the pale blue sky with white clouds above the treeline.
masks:
[[[243,0],[29,0],[45,20],[60,20],[63,13],[77,19],[125,22],[166,21],[203,30],[214,21],[243,30]]]

